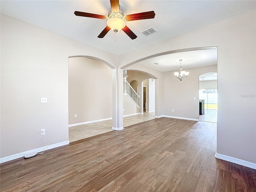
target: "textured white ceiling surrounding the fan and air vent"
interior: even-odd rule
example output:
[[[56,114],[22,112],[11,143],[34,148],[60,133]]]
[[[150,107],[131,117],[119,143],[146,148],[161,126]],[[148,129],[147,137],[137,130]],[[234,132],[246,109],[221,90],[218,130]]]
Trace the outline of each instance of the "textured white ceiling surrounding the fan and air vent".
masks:
[[[126,15],[154,10],[156,16],[126,22],[138,38],[131,40],[120,31],[116,42],[112,31],[104,38],[97,38],[106,20],[74,15],[74,11],[107,15],[109,0],[1,0],[0,7],[3,14],[120,55],[254,9],[256,1],[120,0],[120,10]],[[150,27],[158,32],[147,37],[140,34]]]

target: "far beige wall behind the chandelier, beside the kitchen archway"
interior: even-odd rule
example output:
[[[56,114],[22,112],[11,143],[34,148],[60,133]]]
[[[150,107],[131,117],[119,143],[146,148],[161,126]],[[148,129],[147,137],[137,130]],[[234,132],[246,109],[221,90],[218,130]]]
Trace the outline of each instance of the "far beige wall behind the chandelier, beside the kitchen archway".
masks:
[[[164,72],[164,115],[199,119],[198,76],[216,72],[217,65],[186,68],[186,71],[189,76],[182,81],[175,78],[174,71]]]

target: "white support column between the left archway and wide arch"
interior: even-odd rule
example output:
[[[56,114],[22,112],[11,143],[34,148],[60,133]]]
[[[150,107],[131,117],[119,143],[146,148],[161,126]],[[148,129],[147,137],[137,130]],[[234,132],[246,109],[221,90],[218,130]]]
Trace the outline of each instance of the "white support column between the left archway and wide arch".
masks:
[[[124,129],[124,117],[123,117],[123,70],[112,70],[112,129],[122,130]]]

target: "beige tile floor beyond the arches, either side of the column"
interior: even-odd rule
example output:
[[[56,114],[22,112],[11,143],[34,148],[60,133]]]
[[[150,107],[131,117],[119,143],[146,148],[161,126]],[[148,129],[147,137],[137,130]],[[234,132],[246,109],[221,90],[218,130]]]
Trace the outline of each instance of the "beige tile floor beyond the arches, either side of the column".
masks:
[[[144,112],[144,114],[124,117],[124,127],[155,118],[154,112]],[[69,127],[69,142],[92,137],[112,130],[112,120],[100,121],[95,123],[83,124]]]

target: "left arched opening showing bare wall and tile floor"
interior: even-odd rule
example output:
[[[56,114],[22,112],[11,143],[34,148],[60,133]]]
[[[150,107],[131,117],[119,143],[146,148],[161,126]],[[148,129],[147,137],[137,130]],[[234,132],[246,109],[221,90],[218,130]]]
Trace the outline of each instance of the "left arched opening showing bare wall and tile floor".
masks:
[[[109,65],[84,56],[69,58],[68,123],[70,142],[112,131]]]

